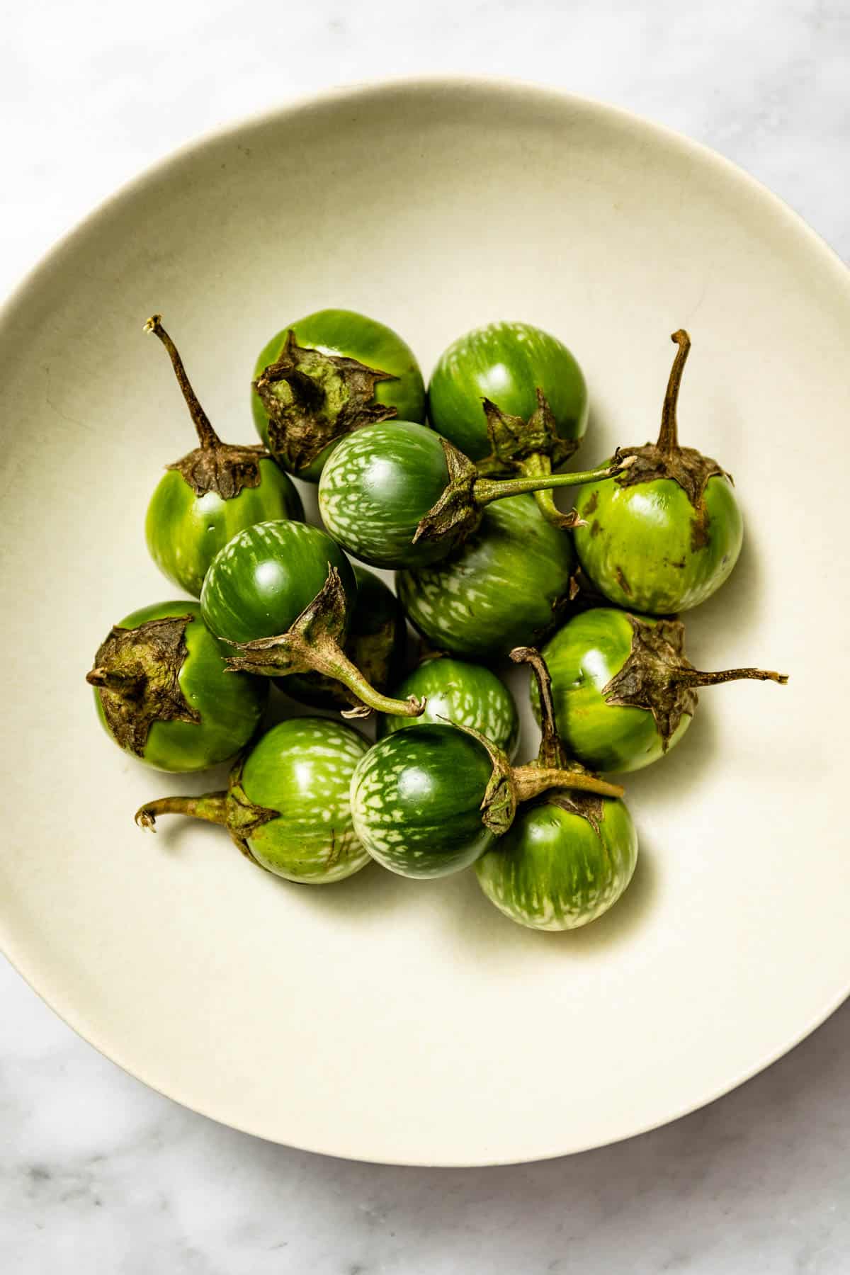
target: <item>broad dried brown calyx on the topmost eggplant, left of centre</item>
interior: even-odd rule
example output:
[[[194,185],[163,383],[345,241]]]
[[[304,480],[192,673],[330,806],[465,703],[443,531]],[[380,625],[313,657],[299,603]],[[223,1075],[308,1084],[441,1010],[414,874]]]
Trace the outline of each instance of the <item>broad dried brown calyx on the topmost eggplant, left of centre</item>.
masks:
[[[299,346],[293,329],[283,349],[254,381],[269,418],[269,446],[285,468],[305,469],[329,444],[396,416],[375,402],[375,388],[395,376],[356,358]]]

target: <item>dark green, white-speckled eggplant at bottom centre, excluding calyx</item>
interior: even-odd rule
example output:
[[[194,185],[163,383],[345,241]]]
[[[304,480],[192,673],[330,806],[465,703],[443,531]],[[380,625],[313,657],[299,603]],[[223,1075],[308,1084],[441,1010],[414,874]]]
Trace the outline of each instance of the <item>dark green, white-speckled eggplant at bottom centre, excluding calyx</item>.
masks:
[[[400,876],[459,872],[494,840],[482,821],[492,770],[487,750],[455,727],[394,731],[352,778],[354,831]]]

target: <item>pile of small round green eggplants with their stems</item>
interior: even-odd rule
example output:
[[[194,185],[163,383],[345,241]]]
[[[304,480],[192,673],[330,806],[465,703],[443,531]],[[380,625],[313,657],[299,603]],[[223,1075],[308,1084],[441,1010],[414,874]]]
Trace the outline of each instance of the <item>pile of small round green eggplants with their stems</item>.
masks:
[[[529,324],[455,340],[427,391],[376,320],[322,310],[287,324],[254,368],[261,441],[245,445],[222,441],[162,317],[145,330],[198,440],[166,465],[145,519],[180,597],[120,620],[87,681],[138,761],[232,768],[226,789],[150,801],[136,822],[220,824],[254,864],[299,884],[370,863],[410,878],[473,867],[533,929],[605,913],[637,862],[608,776],[677,746],[700,687],[788,680],[702,672],[684,654],[679,615],[724,584],[743,538],[730,476],[679,442],[688,334],[673,334],[656,441],[579,470],[585,377]],[[293,478],[317,483],[322,527]],[[395,571],[395,592],[368,567]],[[540,724],[522,765],[507,660],[529,666]],[[265,724],[279,692],[275,717],[292,701],[312,715]],[[352,724],[370,717],[375,743]]]

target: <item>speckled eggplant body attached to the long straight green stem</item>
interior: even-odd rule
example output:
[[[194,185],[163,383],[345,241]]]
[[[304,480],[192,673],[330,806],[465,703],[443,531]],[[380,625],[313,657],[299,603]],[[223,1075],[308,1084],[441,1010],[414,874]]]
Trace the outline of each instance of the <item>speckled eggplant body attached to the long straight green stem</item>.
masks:
[[[335,541],[370,566],[445,557],[451,538],[413,543],[449,483],[440,436],[412,421],[370,425],[342,439],[319,483],[319,511]]]

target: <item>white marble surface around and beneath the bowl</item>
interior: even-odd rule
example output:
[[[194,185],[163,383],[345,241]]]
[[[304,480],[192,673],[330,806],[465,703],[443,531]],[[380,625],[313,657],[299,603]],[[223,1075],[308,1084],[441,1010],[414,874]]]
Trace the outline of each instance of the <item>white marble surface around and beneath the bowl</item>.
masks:
[[[108,14],[108,17],[107,17]],[[116,185],[210,126],[413,73],[539,80],[737,161],[850,258],[844,0],[94,0],[6,15],[0,293]],[[0,1267],[20,1275],[850,1269],[850,1009],[703,1111],[581,1156],[363,1165],[223,1128],[131,1080],[0,966]]]

